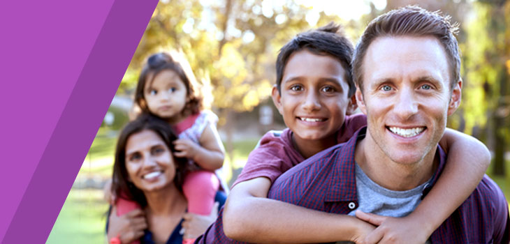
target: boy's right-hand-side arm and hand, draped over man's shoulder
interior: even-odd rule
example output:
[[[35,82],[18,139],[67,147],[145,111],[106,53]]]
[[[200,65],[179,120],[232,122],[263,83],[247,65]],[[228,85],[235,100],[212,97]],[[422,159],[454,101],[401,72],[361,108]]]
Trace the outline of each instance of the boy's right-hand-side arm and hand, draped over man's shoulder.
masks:
[[[437,183],[411,214],[382,218],[356,213],[358,218],[379,225],[368,241],[392,238],[394,243],[424,243],[471,195],[490,164],[488,149],[476,138],[449,128],[439,144],[448,153],[446,165]]]

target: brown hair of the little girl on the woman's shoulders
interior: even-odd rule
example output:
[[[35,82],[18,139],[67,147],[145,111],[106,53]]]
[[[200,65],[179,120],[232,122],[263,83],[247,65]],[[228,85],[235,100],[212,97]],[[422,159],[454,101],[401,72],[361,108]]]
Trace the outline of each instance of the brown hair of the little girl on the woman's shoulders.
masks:
[[[181,60],[185,61],[184,59]],[[145,100],[145,85],[147,82],[152,84],[154,81],[154,77],[161,73],[163,70],[172,70],[175,72],[179,78],[186,86],[187,98],[188,102],[182,109],[182,112],[191,112],[191,114],[196,114],[203,109],[203,98],[195,91],[196,80],[195,77],[189,70],[186,72],[182,67],[181,63],[176,61],[172,55],[166,52],[159,52],[157,54],[153,54],[147,59],[147,63],[142,68],[142,72],[140,73],[140,77],[138,77],[138,85],[136,86],[135,91],[135,102],[138,104],[142,112],[150,113],[149,108],[147,107],[147,101]],[[150,80],[148,80],[150,78]]]

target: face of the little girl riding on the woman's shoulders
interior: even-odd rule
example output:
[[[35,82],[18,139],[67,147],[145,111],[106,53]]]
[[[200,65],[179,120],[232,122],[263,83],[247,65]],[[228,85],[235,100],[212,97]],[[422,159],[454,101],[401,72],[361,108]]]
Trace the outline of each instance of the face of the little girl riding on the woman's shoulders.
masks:
[[[152,75],[147,76],[150,81]],[[163,70],[144,89],[149,111],[163,119],[179,121],[182,109],[188,102],[186,86],[173,70]]]

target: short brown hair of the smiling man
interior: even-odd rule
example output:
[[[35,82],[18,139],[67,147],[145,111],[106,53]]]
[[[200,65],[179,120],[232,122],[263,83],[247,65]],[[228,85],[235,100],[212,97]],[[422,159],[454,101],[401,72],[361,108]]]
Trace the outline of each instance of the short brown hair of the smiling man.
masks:
[[[458,24],[450,23],[451,17],[439,11],[430,12],[418,6],[406,6],[379,15],[368,24],[356,46],[353,58],[354,82],[363,91],[363,59],[370,43],[385,36],[432,36],[439,40],[451,70],[450,89],[460,80],[460,53],[457,39]]]

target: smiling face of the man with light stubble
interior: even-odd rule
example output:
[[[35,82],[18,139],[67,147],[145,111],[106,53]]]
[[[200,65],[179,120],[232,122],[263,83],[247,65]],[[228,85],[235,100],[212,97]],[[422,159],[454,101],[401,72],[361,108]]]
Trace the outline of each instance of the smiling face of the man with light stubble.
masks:
[[[449,88],[449,64],[434,37],[379,37],[363,61],[358,106],[368,135],[393,162],[413,164],[432,156],[446,118],[460,103],[460,87]]]

